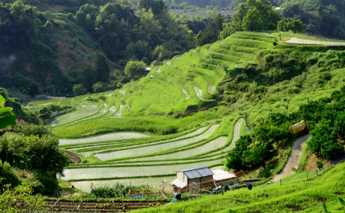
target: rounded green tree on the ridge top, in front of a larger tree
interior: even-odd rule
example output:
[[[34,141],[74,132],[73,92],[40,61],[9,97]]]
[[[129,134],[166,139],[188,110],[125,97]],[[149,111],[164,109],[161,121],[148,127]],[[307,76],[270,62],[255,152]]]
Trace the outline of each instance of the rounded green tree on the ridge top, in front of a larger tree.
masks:
[[[260,31],[263,29],[262,17],[256,8],[248,10],[243,18],[242,28],[245,31]]]

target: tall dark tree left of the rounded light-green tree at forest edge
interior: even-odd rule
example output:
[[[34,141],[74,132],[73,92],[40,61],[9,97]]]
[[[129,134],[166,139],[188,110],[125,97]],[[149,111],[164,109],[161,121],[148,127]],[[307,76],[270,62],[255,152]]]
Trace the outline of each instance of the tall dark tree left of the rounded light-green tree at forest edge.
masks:
[[[110,66],[105,54],[96,51],[93,56],[93,73],[94,82],[108,82],[110,74]]]

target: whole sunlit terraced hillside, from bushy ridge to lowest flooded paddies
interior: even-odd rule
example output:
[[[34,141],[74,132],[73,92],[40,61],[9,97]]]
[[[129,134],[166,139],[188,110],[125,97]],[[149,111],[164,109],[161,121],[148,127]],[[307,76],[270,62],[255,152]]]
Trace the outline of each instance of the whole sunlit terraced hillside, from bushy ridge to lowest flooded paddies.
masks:
[[[147,181],[155,187],[161,181],[167,185],[180,169],[221,168],[239,133],[246,133],[240,117],[247,113],[255,132],[272,115],[293,114],[300,104],[328,97],[343,85],[345,69],[336,59],[343,47],[315,39],[320,46],[286,44],[281,37],[313,39],[236,32],[165,61],[121,89],[30,103],[33,108],[54,102],[76,109],[50,123],[65,138],[60,147],[85,160],[66,168],[62,178],[83,190],[91,182]],[[216,107],[193,112],[211,105]],[[279,128],[287,131],[299,119],[284,121]],[[284,166],[290,147],[274,145],[273,173]]]

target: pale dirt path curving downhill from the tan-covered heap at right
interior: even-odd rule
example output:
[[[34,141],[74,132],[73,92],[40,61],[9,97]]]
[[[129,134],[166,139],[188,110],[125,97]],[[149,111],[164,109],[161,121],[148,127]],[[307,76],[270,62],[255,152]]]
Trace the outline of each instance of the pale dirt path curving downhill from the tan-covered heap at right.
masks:
[[[302,156],[302,147],[304,142],[309,139],[310,134],[297,137],[295,141],[293,142],[291,154],[289,156],[288,162],[286,162],[284,169],[279,172],[279,174],[275,175],[273,177],[273,182],[279,181],[283,179],[284,177],[295,173],[292,168],[297,168]]]

